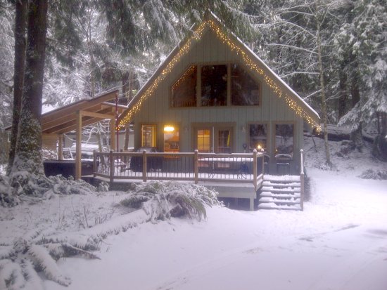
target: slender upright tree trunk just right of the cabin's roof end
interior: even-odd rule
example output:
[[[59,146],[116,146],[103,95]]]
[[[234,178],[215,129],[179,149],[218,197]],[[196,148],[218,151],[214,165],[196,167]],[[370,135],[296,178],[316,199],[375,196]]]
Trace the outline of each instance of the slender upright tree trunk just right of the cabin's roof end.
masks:
[[[325,156],[326,156],[326,165],[328,165],[329,167],[332,167],[331,154],[329,153],[329,144],[328,144],[326,97],[325,97],[324,69],[322,67],[321,38],[319,34],[319,26],[317,25],[317,27],[318,27],[317,28],[317,53],[318,53],[319,79],[320,79],[320,88],[321,88],[322,121],[324,123]]]

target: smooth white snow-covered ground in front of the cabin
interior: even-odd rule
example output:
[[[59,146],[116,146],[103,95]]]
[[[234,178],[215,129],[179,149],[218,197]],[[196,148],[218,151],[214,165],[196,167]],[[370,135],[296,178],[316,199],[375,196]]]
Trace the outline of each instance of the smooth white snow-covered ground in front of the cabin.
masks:
[[[101,260],[58,261],[72,279],[68,287],[46,280],[46,289],[387,289],[387,180],[358,178],[384,169],[369,150],[337,157],[338,171],[323,171],[322,140],[307,138],[312,195],[300,211],[207,209],[207,220],[172,218],[139,223],[110,235],[96,254]],[[35,227],[68,235],[141,220],[117,202],[123,192],[57,196],[39,204],[1,209],[1,241]],[[141,213],[140,213],[141,216]],[[120,221],[121,220],[121,221]],[[86,225],[88,230],[82,230]],[[0,242],[1,242],[0,241]]]

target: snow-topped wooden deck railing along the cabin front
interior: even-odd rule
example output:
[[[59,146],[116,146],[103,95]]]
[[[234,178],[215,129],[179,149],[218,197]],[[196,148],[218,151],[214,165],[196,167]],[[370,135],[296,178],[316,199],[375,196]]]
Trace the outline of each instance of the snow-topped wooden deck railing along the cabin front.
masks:
[[[139,180],[191,180],[253,183],[262,182],[262,152],[94,152],[94,176]]]

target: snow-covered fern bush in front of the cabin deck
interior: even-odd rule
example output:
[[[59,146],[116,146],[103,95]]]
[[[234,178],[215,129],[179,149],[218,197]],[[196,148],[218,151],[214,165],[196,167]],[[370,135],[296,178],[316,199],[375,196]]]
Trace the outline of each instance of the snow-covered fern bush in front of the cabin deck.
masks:
[[[205,206],[220,204],[217,192],[201,185],[177,183],[175,181],[154,181],[137,185],[129,190],[129,197],[120,204],[144,209],[152,221],[188,216],[206,218]]]

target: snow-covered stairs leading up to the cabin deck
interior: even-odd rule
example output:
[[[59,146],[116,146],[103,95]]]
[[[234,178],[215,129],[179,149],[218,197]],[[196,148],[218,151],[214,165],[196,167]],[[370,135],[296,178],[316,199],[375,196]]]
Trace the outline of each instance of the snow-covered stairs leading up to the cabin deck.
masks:
[[[258,209],[301,210],[300,176],[264,175]]]

